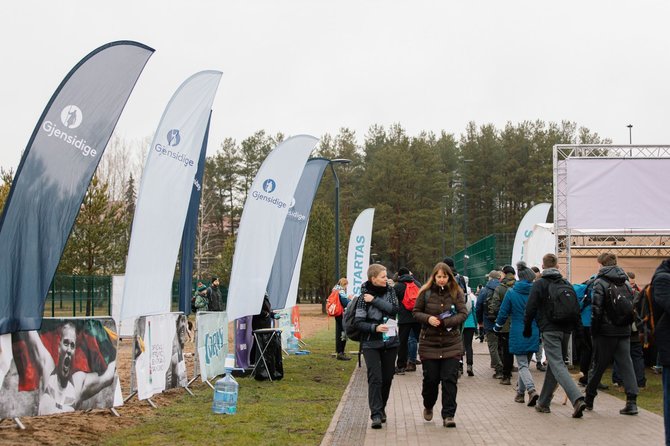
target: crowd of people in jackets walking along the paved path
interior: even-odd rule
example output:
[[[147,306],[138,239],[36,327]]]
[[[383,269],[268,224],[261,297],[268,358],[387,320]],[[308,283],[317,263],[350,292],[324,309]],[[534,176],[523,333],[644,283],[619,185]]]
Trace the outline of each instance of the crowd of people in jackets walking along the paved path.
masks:
[[[435,265],[423,285],[407,267],[399,268],[392,280],[384,266],[370,265],[353,309],[353,325],[361,333],[367,366],[371,427],[380,429],[386,422],[394,375],[416,371],[417,365],[423,373],[424,419],[433,419],[441,389],[443,426],[456,427],[458,380],[464,365],[467,376],[474,376],[472,343],[477,335],[488,344],[494,379],[511,385],[512,373],[518,372],[514,401],[550,413],[554,393],[561,386],[572,404],[572,416],[581,418],[584,411],[594,410],[598,390],[607,387],[601,383],[603,374],[613,366],[612,381],[626,394],[619,413],[636,415],[637,395],[646,384],[640,316],[647,292],[655,312],[657,364],[664,367],[670,444],[670,373],[665,367],[670,366],[670,323],[664,317],[670,311],[670,259],[656,270],[649,291],[640,290],[635,274],[624,271],[615,254],[602,253],[597,261],[599,270],[583,284],[573,285],[559,271],[556,255],[549,253],[542,259],[541,270],[519,262],[516,268],[507,265],[491,271],[487,283],[475,293],[449,257]],[[346,279],[338,285],[346,307],[353,296],[346,295]],[[418,287],[417,296],[411,292],[414,287]],[[345,329],[340,321],[338,359],[349,359],[342,357]],[[572,337],[579,353],[577,381],[566,365]],[[537,370],[545,372],[541,389],[530,372],[533,360]]]

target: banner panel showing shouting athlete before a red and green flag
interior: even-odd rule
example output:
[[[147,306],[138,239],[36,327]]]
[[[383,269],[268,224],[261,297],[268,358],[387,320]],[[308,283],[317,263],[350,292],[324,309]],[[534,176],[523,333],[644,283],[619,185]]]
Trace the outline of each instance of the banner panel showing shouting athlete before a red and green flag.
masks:
[[[114,407],[116,324],[45,318],[38,331],[0,338],[0,418]]]

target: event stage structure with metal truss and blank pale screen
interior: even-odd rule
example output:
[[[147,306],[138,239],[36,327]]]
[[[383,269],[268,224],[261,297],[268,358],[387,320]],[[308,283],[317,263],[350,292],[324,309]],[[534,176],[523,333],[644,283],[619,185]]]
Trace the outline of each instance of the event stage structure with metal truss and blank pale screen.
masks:
[[[573,283],[614,252],[648,283],[670,257],[670,146],[555,145],[554,222],[559,268]]]

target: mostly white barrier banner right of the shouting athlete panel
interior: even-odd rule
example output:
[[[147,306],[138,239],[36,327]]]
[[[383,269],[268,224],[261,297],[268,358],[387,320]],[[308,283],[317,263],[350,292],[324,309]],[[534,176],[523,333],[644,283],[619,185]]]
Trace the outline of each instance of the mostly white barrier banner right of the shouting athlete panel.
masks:
[[[135,322],[133,369],[137,396],[151,398],[166,389],[186,387],[184,344],[188,321],[181,313],[142,316]]]

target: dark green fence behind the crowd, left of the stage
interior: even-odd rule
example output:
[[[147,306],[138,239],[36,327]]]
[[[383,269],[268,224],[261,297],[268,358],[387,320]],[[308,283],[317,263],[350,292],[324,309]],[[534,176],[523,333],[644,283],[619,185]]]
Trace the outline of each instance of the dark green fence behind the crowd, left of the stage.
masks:
[[[453,255],[458,272],[470,278],[470,288],[477,285],[486,285],[486,275],[494,268],[508,265],[512,259],[512,248],[515,234],[491,234],[468,246],[465,259],[465,250]]]

